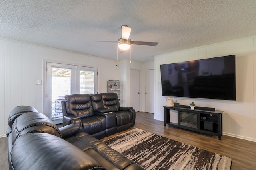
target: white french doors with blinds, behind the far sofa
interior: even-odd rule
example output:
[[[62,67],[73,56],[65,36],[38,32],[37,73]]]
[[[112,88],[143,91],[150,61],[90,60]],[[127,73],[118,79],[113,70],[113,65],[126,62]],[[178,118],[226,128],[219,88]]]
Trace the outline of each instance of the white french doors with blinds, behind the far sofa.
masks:
[[[61,101],[68,94],[97,94],[97,68],[46,63],[46,116],[62,123]]]

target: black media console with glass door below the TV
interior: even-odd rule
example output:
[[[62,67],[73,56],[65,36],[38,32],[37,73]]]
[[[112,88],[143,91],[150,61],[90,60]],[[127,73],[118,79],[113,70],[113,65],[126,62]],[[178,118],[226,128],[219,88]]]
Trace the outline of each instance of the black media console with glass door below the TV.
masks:
[[[172,125],[208,135],[222,136],[222,113],[209,107],[164,106],[164,126]]]

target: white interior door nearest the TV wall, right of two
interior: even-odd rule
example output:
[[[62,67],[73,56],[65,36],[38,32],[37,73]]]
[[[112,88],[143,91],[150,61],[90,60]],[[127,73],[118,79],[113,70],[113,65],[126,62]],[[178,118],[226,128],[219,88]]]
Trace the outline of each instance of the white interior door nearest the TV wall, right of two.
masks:
[[[155,112],[154,70],[145,70],[145,111]]]

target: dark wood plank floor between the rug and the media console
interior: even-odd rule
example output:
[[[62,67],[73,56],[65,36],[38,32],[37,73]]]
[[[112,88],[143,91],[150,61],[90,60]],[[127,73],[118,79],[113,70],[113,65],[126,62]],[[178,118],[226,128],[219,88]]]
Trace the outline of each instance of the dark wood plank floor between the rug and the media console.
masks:
[[[154,120],[154,114],[145,112],[136,113],[136,123],[133,128],[143,129],[169,139],[231,157],[231,170],[256,170],[255,142],[226,135],[223,135],[219,140],[217,136],[195,133],[169,125],[164,126],[163,121]]]

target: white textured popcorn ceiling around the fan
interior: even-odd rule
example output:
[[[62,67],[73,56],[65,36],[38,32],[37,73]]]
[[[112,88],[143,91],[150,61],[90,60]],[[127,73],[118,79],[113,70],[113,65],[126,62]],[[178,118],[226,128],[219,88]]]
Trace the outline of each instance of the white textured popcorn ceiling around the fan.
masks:
[[[132,59],[256,35],[256,0],[1,0],[0,37],[116,59],[121,26]],[[119,53],[129,59],[130,53]]]

